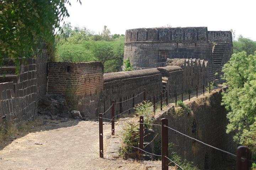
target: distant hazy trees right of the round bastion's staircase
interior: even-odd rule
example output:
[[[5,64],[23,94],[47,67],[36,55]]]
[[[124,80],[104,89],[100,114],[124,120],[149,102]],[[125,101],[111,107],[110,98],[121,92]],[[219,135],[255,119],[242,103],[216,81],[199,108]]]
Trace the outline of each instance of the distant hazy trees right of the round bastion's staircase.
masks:
[[[254,54],[256,42],[240,35],[237,41],[233,41],[233,50],[234,53],[245,51],[248,55]]]

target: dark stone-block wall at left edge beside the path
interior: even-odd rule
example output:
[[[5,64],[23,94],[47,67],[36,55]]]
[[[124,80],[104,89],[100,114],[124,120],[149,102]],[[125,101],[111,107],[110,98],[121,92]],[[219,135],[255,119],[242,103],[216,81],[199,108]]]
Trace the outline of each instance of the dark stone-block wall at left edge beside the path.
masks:
[[[20,61],[19,75],[0,80],[3,82],[0,83],[0,125],[4,121],[19,123],[37,116],[38,98],[46,94],[47,88],[46,47],[41,43],[37,48],[36,58]],[[15,67],[10,67],[14,65],[12,60],[6,60],[5,65],[7,69]]]

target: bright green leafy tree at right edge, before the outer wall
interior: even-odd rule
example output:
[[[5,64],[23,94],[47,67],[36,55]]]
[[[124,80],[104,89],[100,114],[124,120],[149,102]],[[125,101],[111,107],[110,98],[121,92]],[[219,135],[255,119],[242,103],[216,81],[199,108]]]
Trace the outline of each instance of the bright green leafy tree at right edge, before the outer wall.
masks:
[[[235,53],[222,69],[228,89],[222,105],[229,111],[226,132],[234,132],[234,141],[256,153],[256,52]]]

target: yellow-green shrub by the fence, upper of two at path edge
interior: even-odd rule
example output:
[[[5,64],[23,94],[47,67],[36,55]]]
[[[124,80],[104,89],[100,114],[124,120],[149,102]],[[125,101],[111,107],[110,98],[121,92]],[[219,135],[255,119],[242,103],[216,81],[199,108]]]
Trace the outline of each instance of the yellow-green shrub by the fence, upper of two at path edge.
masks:
[[[154,120],[152,103],[150,101],[143,101],[142,103],[136,104],[134,109],[135,114],[143,116],[145,123],[144,128],[149,130],[151,128],[151,125],[146,124],[152,124]]]

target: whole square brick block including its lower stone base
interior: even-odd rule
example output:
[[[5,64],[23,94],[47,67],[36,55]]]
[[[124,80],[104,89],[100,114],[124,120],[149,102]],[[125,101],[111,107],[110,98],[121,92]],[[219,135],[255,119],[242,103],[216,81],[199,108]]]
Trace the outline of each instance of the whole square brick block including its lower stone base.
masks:
[[[68,85],[78,97],[79,111],[91,119],[96,118],[102,104],[102,63],[49,63],[48,93],[65,95]]]

